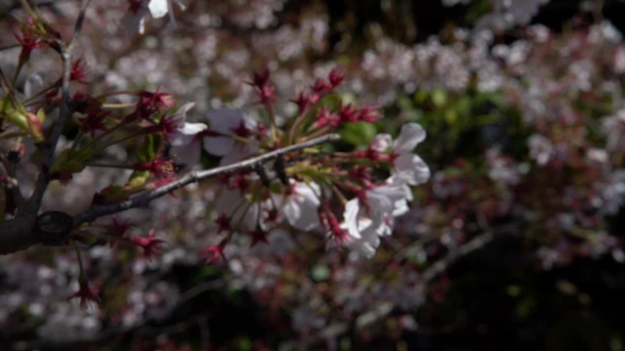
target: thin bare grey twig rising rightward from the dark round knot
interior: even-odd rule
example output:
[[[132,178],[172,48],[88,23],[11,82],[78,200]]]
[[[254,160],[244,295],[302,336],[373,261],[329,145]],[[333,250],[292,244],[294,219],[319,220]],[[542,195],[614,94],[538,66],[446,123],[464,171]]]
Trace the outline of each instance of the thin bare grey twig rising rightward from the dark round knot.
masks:
[[[299,144],[282,147],[280,149],[267,152],[266,154],[251,157],[249,159],[245,159],[234,164],[229,164],[227,166],[205,169],[203,171],[189,172],[188,174],[184,175],[174,182],[163,185],[149,192],[144,192],[143,194],[136,195],[131,199],[118,202],[116,204],[95,205],[91,207],[91,209],[74,217],[74,227],[81,225],[85,222],[93,222],[93,220],[96,220],[104,215],[115,214],[136,207],[143,207],[145,205],[148,205],[151,200],[166,195],[169,192],[184,187],[187,184],[198,182],[199,180],[218,177],[225,174],[232,174],[235,172],[254,171],[254,168],[258,165],[262,165],[264,162],[276,159],[277,157],[288,154],[289,152],[306,149],[306,147],[316,146],[318,144],[323,144],[324,142],[337,141],[339,139],[341,139],[341,137],[338,134],[326,134],[324,136],[309,139]]]

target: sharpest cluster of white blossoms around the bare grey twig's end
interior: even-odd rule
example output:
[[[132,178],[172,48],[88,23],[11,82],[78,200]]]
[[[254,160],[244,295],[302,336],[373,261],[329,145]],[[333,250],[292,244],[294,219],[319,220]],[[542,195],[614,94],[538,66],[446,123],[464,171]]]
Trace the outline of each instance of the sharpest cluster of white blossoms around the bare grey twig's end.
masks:
[[[183,107],[179,115],[184,116],[188,108]],[[206,122],[183,119],[169,136],[176,162],[197,164],[203,147],[208,154],[221,157],[219,163],[224,166],[269,151],[275,144],[268,128],[241,110],[209,111]],[[409,123],[402,126],[395,141],[390,134],[378,134],[366,150],[322,157],[321,151],[308,150],[297,157],[287,156],[281,162],[288,164],[274,164],[274,169],[261,174],[246,172],[224,178],[214,206],[219,212],[218,231],[247,232],[256,244],[266,242],[272,230],[282,230],[288,224],[300,231],[324,234],[330,245],[343,245],[372,257],[379,238],[391,235],[395,218],[409,210],[410,186],[429,179],[429,167],[412,153],[425,137],[419,124]],[[371,172],[382,164],[388,166],[389,177],[376,181]],[[355,196],[346,200],[343,192]],[[342,199],[342,220],[334,214],[332,194]]]

